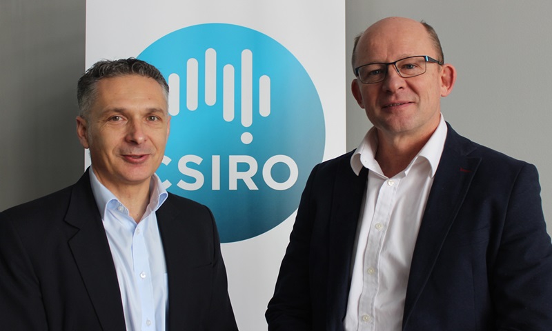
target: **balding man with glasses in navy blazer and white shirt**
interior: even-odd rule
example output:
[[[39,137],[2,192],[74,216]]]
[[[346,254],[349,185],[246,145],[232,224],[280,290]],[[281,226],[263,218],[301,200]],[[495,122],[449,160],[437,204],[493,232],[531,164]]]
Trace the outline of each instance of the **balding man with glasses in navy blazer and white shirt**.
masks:
[[[426,23],[355,40],[373,128],[317,165],[268,304],[269,330],[552,330],[552,245],[535,167],[443,119],[456,70]]]

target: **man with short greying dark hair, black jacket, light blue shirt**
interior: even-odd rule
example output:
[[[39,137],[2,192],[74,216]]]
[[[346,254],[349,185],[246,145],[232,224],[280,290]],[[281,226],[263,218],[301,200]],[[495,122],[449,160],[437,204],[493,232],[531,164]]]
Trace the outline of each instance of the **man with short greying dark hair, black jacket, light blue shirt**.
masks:
[[[213,214],[155,170],[168,85],[137,59],[79,79],[75,185],[0,213],[3,330],[237,330]]]

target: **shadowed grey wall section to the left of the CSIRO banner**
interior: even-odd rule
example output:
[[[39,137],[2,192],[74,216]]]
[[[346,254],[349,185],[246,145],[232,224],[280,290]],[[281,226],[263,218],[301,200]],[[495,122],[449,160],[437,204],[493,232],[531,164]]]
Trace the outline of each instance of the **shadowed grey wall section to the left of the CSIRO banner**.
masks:
[[[0,210],[76,181],[85,3],[0,1]]]

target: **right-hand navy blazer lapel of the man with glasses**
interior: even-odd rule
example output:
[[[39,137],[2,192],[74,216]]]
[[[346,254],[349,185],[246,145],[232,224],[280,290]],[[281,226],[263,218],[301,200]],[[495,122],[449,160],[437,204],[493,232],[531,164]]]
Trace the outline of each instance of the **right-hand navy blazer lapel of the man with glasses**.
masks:
[[[471,141],[460,137],[449,126],[412,257],[404,304],[403,328],[420,293],[424,290],[444,240],[477,171],[480,159],[466,157],[473,149],[475,146]]]

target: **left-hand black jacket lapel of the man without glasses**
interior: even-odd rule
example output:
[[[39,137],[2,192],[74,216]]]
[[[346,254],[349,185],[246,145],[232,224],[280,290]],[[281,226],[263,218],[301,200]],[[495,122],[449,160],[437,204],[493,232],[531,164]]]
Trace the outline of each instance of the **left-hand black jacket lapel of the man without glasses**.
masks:
[[[68,244],[103,330],[126,330],[117,272],[88,171],[73,186],[66,222],[75,228]]]

